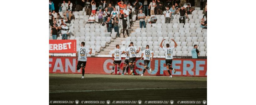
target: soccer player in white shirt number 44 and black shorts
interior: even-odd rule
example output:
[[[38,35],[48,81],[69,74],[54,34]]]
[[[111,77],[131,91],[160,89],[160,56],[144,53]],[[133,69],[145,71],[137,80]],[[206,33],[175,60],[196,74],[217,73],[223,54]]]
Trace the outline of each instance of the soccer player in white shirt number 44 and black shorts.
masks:
[[[116,45],[116,48],[113,52],[112,52],[112,57],[114,57],[114,62],[113,62],[113,66],[112,66],[112,72],[111,74],[113,74],[114,72],[114,69],[115,69],[115,66],[117,65],[117,75],[119,73],[119,69],[120,69],[120,64],[121,64],[121,55],[123,53],[126,53],[125,51],[123,50],[120,50],[120,46],[119,45]]]

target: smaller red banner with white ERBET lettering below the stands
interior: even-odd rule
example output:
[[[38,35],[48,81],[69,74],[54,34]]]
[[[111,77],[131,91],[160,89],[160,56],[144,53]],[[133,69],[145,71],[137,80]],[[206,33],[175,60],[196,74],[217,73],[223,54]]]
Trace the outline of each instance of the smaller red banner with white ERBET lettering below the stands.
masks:
[[[76,53],[76,40],[49,40],[49,53]]]

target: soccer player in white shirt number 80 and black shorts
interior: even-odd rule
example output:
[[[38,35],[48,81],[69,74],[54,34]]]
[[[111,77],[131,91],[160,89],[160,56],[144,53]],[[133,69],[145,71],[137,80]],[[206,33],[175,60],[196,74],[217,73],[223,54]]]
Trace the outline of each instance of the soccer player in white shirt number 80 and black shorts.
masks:
[[[150,55],[152,55],[151,59],[150,59]],[[150,73],[152,72],[151,71],[152,69],[149,68],[148,65],[149,65],[150,60],[152,61],[153,56],[154,56],[154,53],[151,50],[149,50],[149,45],[147,45],[146,49],[142,51],[141,58],[140,58],[140,60],[142,60],[142,57],[144,58],[144,67],[145,67],[143,69],[143,73],[141,74],[141,76],[143,76],[146,69],[148,69],[150,71]]]

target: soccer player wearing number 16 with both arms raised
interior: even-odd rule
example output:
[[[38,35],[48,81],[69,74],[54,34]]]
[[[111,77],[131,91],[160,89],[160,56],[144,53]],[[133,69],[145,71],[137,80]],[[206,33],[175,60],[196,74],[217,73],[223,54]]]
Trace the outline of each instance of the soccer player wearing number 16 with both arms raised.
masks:
[[[165,47],[162,46],[164,40],[165,40],[165,39],[162,40],[162,42],[161,42],[161,44],[160,44],[160,47],[163,48],[164,51],[165,51],[165,56],[166,56],[166,58],[165,58],[166,68],[167,68],[168,73],[170,74],[169,77],[172,78],[172,74],[171,74],[171,72],[170,72],[170,69],[174,71],[174,74],[176,73],[175,68],[172,68],[172,67],[171,67],[171,66],[172,66],[172,51],[173,51],[173,49],[174,49],[175,47],[177,47],[177,43],[176,43],[173,39],[171,39],[171,40],[174,42],[175,45],[170,47],[169,44],[166,44],[166,48],[165,48]]]

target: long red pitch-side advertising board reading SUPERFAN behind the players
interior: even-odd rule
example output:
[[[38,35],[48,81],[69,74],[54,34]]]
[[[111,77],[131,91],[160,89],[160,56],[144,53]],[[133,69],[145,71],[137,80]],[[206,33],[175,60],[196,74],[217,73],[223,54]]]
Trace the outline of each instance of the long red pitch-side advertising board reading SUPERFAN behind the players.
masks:
[[[123,72],[122,58],[120,71]],[[87,57],[85,66],[85,74],[110,74],[114,59],[110,57]],[[76,70],[77,60],[75,57],[49,57],[49,73],[82,73],[81,69]],[[149,67],[152,73],[146,70],[144,75],[169,76],[165,58],[153,58]],[[176,73],[172,71],[172,76],[207,76],[207,59],[182,59],[176,58],[172,60],[172,68],[176,69]],[[140,58],[136,58],[135,74],[142,74],[144,62]],[[130,70],[128,70],[130,72]],[[115,73],[117,69],[115,67]],[[124,71],[126,73],[126,70]]]

